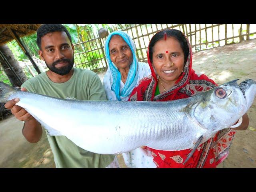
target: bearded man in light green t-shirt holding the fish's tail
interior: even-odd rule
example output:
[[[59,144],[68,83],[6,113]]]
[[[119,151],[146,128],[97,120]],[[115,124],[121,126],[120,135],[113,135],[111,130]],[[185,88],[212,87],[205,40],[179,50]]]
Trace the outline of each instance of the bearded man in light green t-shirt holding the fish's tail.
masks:
[[[106,100],[104,88],[96,73],[73,68],[74,46],[68,30],[63,25],[40,26],[37,31],[37,44],[40,49],[39,56],[49,70],[24,82],[22,91],[62,99]],[[18,120],[25,121],[22,134],[28,142],[36,143],[42,137],[42,126],[24,108],[15,105],[17,102],[18,98],[10,100],[5,107],[11,109]],[[76,146],[66,136],[47,134],[47,137],[56,168],[104,168],[116,165],[113,155],[88,152]]]

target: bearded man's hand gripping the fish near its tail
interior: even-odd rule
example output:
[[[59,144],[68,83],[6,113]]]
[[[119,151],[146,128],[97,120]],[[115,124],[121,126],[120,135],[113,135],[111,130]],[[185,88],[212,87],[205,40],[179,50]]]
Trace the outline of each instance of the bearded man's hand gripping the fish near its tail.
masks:
[[[25,88],[21,88],[22,91],[27,91]],[[7,109],[12,111],[12,114],[20,120],[20,121],[28,121],[31,120],[33,117],[22,107],[16,105],[20,100],[19,98],[14,98],[8,101],[4,106]]]

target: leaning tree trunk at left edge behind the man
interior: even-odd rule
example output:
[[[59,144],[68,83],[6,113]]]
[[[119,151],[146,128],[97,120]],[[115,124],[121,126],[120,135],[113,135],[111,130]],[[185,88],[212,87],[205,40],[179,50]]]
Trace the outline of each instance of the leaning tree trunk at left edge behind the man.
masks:
[[[14,58],[14,55],[12,54],[12,51],[9,49],[9,47],[4,44],[0,46],[0,51],[2,54],[4,54],[5,58],[8,60],[10,65],[12,66],[12,69],[16,72],[16,74],[20,77],[20,80],[22,83],[24,83],[27,80],[26,75],[24,74],[22,68],[20,67],[18,61]],[[18,78],[14,75],[14,73],[10,70],[6,62],[2,59],[0,56],[0,63],[2,65],[2,68],[4,69],[4,72],[8,76],[10,83],[16,87],[20,87],[21,83],[18,80]]]

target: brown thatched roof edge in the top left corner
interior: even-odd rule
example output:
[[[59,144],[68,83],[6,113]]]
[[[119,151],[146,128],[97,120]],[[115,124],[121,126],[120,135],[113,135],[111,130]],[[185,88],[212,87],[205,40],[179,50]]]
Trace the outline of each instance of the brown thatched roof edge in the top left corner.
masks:
[[[23,37],[35,33],[40,25],[41,24],[0,24],[0,45],[14,39],[8,28],[15,31],[19,37]]]

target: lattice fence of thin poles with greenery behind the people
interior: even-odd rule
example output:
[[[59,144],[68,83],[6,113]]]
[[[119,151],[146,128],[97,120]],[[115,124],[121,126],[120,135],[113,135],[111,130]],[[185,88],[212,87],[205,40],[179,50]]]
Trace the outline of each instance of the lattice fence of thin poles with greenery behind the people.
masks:
[[[182,31],[190,41],[193,52],[256,38],[256,24],[112,24],[111,27],[105,26],[108,30],[107,34],[114,30],[127,32],[135,42],[136,56],[141,62],[147,62],[147,48],[152,36],[166,28]],[[108,67],[104,53],[106,36],[100,38],[98,30],[92,30],[86,25],[76,25],[76,32],[78,42],[74,44],[75,66],[93,71],[105,70]],[[35,38],[36,34],[33,36]],[[34,55],[34,60],[43,72],[46,66],[40,64],[35,57],[38,52],[36,40],[34,42],[25,41],[23,38],[21,40],[30,54]],[[25,62],[22,68],[28,78],[37,74],[29,61]],[[8,82],[2,66],[0,66],[0,80]]]

